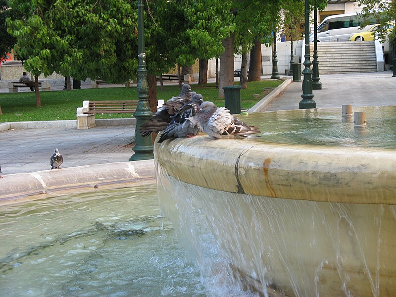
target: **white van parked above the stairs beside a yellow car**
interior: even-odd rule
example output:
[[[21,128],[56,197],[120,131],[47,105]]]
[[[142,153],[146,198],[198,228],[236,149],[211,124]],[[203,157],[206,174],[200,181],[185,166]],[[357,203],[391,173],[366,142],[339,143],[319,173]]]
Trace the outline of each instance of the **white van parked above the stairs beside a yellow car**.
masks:
[[[363,21],[364,18],[356,13],[328,16],[318,26],[317,41],[348,41],[350,35],[367,31],[372,25],[380,22],[379,17],[370,17],[370,24],[360,29]],[[309,41],[313,41],[313,33],[309,35]]]

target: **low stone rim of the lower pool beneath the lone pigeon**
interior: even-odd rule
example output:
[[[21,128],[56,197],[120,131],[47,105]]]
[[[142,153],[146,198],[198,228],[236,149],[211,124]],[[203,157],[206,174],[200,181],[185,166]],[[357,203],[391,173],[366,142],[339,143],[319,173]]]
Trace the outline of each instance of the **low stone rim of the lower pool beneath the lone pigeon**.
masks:
[[[84,192],[89,188],[96,191],[96,186],[103,189],[155,183],[155,176],[154,160],[8,174],[0,179],[0,205],[45,198],[43,194],[54,196],[71,191]]]

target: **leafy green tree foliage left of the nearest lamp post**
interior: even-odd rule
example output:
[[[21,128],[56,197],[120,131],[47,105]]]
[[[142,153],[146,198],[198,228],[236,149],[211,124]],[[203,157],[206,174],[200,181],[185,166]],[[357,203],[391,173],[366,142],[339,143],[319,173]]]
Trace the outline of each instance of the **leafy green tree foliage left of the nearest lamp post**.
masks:
[[[136,11],[128,1],[10,0],[10,5],[29,16],[8,19],[8,31],[34,75],[120,82],[136,72]]]

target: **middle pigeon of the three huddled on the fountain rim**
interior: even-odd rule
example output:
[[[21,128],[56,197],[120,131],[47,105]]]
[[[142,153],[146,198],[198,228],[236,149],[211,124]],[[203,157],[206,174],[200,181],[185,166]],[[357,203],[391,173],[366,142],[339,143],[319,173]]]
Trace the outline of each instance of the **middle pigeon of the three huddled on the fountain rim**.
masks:
[[[168,127],[159,137],[158,143],[166,139],[192,137],[202,131],[198,121],[198,110],[203,102],[201,94],[194,95],[191,101],[185,103],[174,116]]]

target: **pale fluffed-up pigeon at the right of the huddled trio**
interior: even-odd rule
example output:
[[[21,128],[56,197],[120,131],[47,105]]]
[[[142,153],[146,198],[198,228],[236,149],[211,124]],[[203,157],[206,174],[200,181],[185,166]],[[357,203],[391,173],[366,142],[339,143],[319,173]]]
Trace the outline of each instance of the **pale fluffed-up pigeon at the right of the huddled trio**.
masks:
[[[198,110],[198,119],[210,139],[253,137],[261,133],[258,127],[248,126],[225,107],[217,107],[213,102],[203,102]]]

